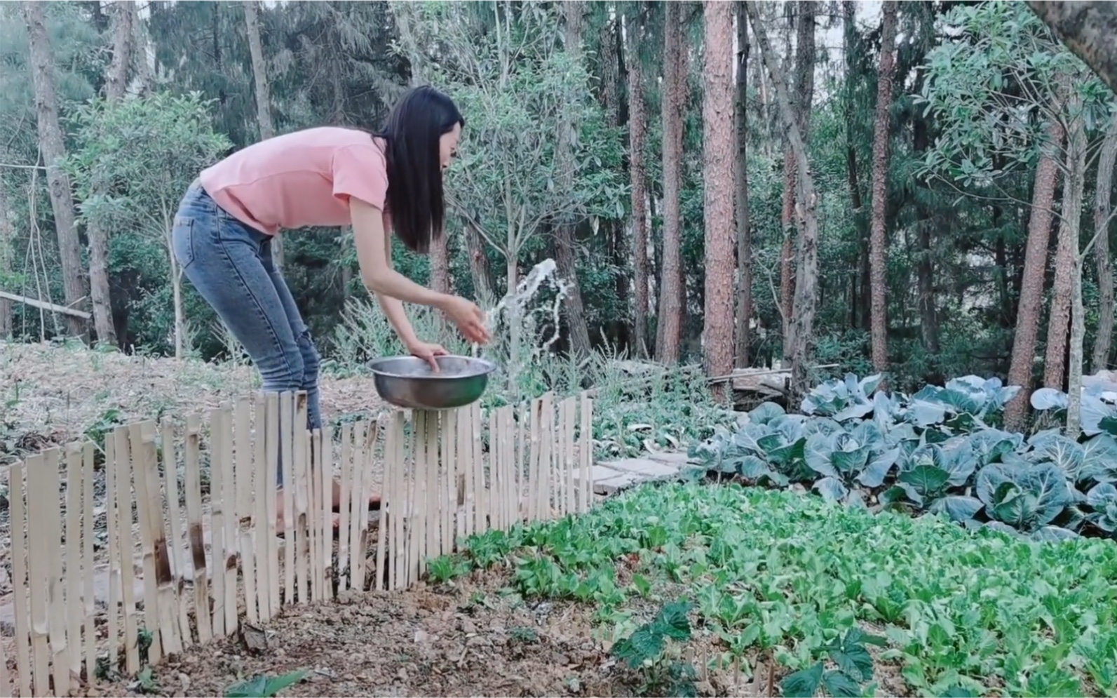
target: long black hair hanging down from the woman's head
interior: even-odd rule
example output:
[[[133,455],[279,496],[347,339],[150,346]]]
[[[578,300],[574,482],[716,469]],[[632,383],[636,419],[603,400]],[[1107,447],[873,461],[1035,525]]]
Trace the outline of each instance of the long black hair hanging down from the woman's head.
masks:
[[[386,144],[392,229],[417,252],[426,254],[431,240],[442,236],[446,200],[439,140],[455,124],[466,126],[454,101],[424,85],[408,90],[392,107],[384,127],[374,134]]]

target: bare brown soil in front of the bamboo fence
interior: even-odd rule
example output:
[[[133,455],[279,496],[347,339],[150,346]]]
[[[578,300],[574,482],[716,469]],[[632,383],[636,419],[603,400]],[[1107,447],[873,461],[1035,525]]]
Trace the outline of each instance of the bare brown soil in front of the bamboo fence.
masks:
[[[595,637],[592,606],[524,601],[507,593],[507,573],[495,571],[455,586],[353,592],[340,603],[289,608],[265,628],[244,627],[235,638],[165,659],[146,685],[122,678],[71,695],[223,696],[255,676],[298,670],[304,680],[280,696],[643,695],[643,678],[613,661],[608,641]],[[715,656],[712,640],[698,633],[690,641],[694,659]],[[699,676],[695,688],[703,696],[768,696],[777,678],[762,662],[755,681],[726,668]]]

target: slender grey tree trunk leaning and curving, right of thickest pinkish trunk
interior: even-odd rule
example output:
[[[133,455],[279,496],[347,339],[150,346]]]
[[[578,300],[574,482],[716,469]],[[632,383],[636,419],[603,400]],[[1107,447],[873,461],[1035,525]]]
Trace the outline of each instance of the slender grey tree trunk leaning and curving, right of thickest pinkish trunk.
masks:
[[[814,205],[818,194],[814,190],[814,178],[811,174],[810,162],[806,159],[806,144],[800,135],[799,124],[792,108],[791,97],[787,94],[786,83],[783,80],[780,67],[775,63],[775,54],[768,44],[767,34],[761,22],[756,7],[752,2],[745,3],[745,11],[753,25],[753,34],[761,46],[761,58],[772,76],[772,84],[775,88],[776,101],[780,104],[780,114],[783,126],[787,131],[791,147],[795,155],[795,171],[798,173],[799,187],[796,207],[802,223],[802,239],[800,245],[801,264],[795,277],[795,317],[792,323],[794,346],[792,347],[791,362],[791,391],[789,400],[791,404],[798,405],[810,390],[808,384],[808,361],[810,358],[810,344],[814,333],[814,312],[818,305],[817,287],[819,277],[819,228],[818,219],[814,214]]]

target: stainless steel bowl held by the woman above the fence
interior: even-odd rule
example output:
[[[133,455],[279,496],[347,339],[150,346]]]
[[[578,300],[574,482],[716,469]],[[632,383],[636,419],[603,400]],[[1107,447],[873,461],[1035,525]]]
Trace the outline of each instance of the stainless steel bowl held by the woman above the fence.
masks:
[[[376,392],[412,410],[451,410],[476,402],[496,365],[469,356],[437,356],[439,372],[414,356],[389,356],[369,364]]]

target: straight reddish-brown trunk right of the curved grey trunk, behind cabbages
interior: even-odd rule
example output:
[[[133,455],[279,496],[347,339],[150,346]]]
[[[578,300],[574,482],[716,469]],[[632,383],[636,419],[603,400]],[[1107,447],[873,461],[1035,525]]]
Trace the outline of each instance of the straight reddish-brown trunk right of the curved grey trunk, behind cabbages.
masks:
[[[896,73],[896,0],[885,0],[880,37],[880,77],[877,80],[877,118],[872,137],[872,227],[869,236],[870,290],[872,294],[872,369],[888,371],[888,318],[885,287],[888,283],[888,237],[885,211],[888,205],[889,109],[892,75]]]

